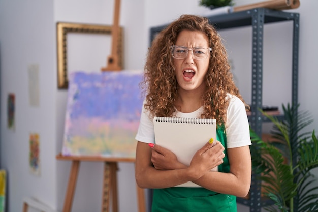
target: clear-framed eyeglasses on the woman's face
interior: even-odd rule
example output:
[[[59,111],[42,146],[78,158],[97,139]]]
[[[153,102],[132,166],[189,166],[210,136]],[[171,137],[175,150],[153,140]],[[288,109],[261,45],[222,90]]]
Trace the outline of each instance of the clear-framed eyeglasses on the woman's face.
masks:
[[[194,59],[197,60],[204,60],[208,58],[208,55],[210,51],[212,51],[211,47],[194,47],[194,48],[188,48],[186,46],[171,46],[171,52],[172,52],[172,57],[175,59],[184,59],[187,55],[189,50],[192,51],[192,56]]]

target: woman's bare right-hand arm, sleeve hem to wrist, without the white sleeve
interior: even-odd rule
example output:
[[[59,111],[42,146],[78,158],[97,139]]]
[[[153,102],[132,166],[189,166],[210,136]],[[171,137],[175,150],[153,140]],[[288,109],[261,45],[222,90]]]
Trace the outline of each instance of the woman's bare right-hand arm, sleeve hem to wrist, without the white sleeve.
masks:
[[[215,192],[245,197],[251,183],[249,146],[229,148],[227,151],[230,163],[229,173],[210,171],[194,183]]]

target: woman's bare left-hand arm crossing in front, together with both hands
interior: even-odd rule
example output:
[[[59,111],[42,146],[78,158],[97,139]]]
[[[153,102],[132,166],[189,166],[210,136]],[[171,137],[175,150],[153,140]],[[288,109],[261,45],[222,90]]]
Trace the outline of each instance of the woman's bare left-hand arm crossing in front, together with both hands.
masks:
[[[141,188],[169,188],[199,179],[213,167],[221,164],[224,147],[219,143],[213,148],[207,142],[186,167],[166,148],[138,142],[136,150],[136,181]]]

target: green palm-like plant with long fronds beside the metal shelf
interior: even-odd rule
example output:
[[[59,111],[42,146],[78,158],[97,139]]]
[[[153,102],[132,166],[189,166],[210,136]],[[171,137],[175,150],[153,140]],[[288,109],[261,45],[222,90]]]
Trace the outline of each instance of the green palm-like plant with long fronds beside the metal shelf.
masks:
[[[267,211],[318,211],[318,186],[311,173],[318,167],[318,140],[314,130],[301,132],[312,119],[298,107],[283,105],[282,121],[261,110],[274,124],[275,141],[265,142],[251,130],[253,171],[263,181],[263,194],[274,202]]]

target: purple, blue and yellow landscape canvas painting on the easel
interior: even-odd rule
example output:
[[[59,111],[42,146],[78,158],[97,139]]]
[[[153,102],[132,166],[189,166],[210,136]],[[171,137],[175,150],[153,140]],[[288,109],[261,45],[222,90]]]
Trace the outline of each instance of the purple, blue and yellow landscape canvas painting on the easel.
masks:
[[[134,158],[142,71],[72,72],[63,156]]]

